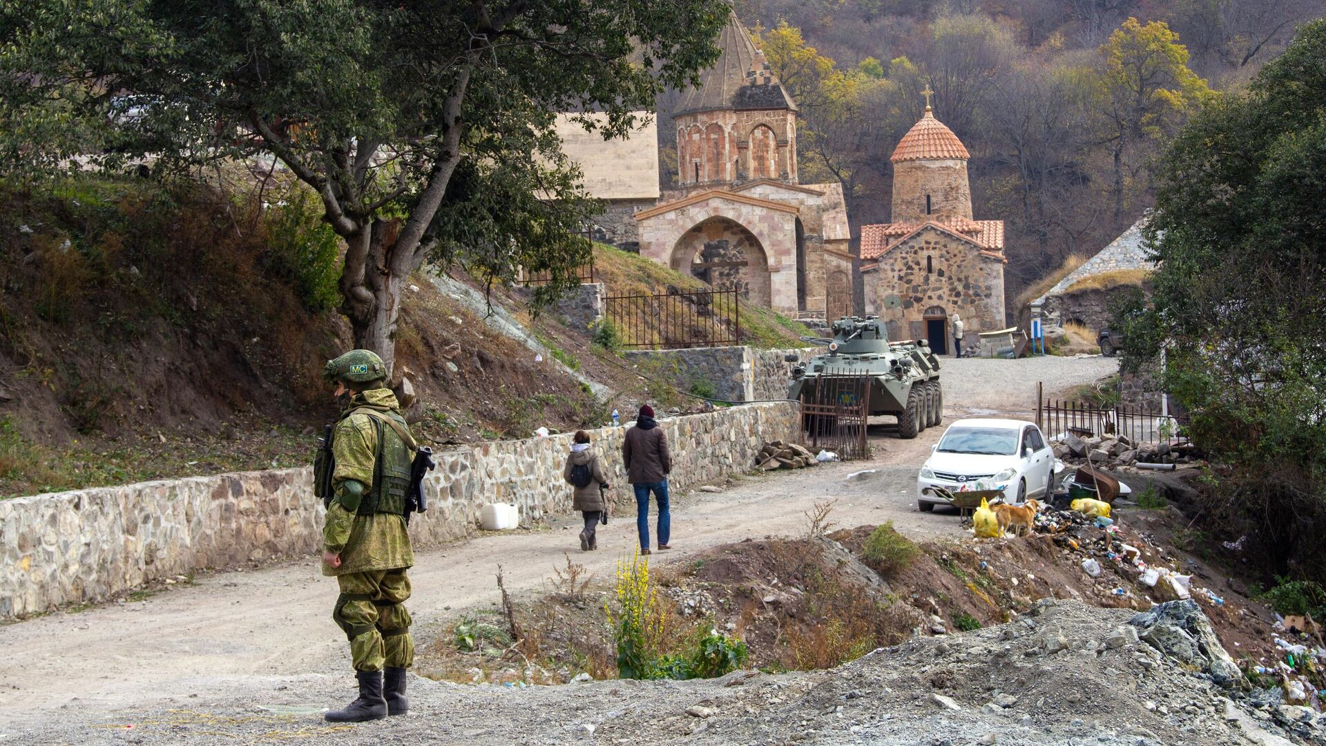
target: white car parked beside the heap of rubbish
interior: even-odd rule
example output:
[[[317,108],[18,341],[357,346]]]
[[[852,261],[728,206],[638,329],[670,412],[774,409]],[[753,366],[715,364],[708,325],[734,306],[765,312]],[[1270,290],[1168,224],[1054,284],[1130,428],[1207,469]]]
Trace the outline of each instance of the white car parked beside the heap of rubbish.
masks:
[[[916,478],[920,510],[948,504],[940,496],[923,494],[926,487],[944,487],[952,492],[964,485],[975,488],[975,483],[981,482],[991,490],[1005,487],[1005,499],[1010,503],[1045,499],[1054,492],[1054,450],[1034,422],[959,419],[944,430],[932,450]]]

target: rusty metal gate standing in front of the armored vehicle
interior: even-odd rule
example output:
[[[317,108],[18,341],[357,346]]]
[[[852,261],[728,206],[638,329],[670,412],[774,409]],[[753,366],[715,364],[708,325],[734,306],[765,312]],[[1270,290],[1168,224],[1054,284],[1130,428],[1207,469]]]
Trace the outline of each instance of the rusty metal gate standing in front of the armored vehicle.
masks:
[[[870,458],[870,376],[826,370],[801,392],[801,426],[813,451]],[[809,382],[808,382],[809,384]]]

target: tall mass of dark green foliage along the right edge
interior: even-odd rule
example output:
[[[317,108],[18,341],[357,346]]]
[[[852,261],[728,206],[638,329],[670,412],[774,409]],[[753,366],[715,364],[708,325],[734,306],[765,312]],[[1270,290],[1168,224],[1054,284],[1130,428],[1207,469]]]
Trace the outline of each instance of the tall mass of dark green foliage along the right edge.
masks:
[[[1246,93],[1211,102],[1160,162],[1154,308],[1193,439],[1233,473],[1211,524],[1276,572],[1326,572],[1326,20]],[[1292,519],[1288,516],[1293,516]]]

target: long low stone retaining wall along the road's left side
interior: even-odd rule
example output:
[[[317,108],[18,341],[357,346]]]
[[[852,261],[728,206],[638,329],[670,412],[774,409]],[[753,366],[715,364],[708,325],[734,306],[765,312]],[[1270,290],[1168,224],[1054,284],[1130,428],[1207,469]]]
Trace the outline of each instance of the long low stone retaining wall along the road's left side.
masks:
[[[794,439],[797,405],[762,404],[663,419],[674,488],[753,466],[765,441]],[[623,427],[591,430],[611,495],[630,504]],[[570,512],[562,482],[570,434],[500,441],[439,454],[428,512],[410,524],[418,544],[461,539],[485,503],[522,520]],[[95,487],[0,500],[0,619],[101,601],[143,583],[321,550],[322,504],[312,469],[285,469]],[[626,500],[622,503],[622,500]]]

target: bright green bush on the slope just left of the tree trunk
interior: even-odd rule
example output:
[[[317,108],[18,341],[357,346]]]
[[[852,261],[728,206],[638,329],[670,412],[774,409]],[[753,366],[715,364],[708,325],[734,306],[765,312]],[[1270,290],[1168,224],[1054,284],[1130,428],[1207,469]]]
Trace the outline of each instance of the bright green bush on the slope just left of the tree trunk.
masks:
[[[341,300],[341,240],[308,190],[293,190],[285,204],[269,211],[267,238],[272,269],[294,288],[304,307],[314,313],[335,307]]]

